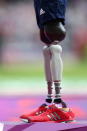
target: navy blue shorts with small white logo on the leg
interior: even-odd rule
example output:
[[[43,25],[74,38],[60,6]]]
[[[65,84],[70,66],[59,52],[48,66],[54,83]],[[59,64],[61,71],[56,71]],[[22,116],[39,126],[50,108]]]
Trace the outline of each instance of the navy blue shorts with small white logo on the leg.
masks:
[[[43,28],[50,20],[61,19],[65,22],[67,0],[34,0],[37,24]]]

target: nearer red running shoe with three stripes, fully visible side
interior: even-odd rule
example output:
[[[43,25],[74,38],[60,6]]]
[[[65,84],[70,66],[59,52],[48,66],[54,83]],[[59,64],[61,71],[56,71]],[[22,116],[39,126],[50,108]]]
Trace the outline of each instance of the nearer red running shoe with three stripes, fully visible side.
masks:
[[[57,108],[55,105],[51,105],[46,112],[28,117],[28,122],[68,123],[73,121],[74,117],[74,113],[69,108]]]

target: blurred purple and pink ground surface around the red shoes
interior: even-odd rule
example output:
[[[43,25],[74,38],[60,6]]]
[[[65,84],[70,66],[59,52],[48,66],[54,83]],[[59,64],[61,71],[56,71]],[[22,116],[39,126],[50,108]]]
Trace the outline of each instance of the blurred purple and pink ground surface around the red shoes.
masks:
[[[44,103],[44,96],[5,96],[0,97],[0,131],[60,131],[87,130],[87,97],[67,96],[63,99],[76,114],[77,122],[30,123],[20,122],[19,116],[32,111]]]

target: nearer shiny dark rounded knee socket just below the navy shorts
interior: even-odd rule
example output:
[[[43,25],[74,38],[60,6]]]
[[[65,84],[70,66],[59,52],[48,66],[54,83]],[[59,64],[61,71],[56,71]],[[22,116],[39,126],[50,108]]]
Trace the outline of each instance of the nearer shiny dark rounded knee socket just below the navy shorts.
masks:
[[[61,22],[50,21],[44,26],[45,35],[47,38],[53,41],[62,41],[66,36],[66,29]]]

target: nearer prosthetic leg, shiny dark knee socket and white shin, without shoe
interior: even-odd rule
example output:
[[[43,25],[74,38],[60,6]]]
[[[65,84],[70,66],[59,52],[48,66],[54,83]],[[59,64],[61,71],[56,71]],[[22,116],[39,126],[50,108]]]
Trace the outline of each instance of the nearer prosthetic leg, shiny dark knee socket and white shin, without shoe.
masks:
[[[62,103],[63,107],[66,107],[66,104],[62,101],[60,95],[60,83],[62,79],[63,64],[60,54],[62,52],[62,47],[58,45],[59,41],[62,41],[65,38],[66,31],[63,24],[59,21],[48,22],[45,26],[45,35],[50,39],[51,43],[48,46],[51,58],[51,69],[52,78],[55,85],[55,99],[54,103]],[[48,65],[48,61],[45,63]]]

